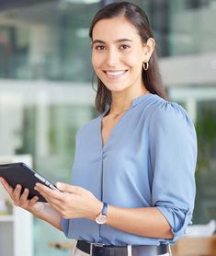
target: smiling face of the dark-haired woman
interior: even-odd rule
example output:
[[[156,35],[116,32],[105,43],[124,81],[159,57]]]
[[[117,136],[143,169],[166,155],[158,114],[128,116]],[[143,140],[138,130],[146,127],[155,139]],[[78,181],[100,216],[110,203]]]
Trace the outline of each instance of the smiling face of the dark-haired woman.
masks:
[[[92,64],[110,91],[143,87],[142,62],[149,60],[148,53],[137,29],[125,17],[101,19],[96,23]]]

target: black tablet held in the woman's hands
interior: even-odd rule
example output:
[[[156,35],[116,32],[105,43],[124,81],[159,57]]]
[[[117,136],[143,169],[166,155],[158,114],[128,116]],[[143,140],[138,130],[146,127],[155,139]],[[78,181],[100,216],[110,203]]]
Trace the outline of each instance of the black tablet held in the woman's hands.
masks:
[[[13,188],[15,188],[17,184],[20,184],[22,186],[22,192],[25,188],[28,188],[28,199],[31,199],[33,196],[37,195],[40,202],[47,201],[34,189],[36,182],[40,182],[51,189],[57,189],[56,186],[51,183],[51,181],[42,177],[35,170],[30,169],[28,165],[24,163],[0,165],[0,177],[3,177]]]

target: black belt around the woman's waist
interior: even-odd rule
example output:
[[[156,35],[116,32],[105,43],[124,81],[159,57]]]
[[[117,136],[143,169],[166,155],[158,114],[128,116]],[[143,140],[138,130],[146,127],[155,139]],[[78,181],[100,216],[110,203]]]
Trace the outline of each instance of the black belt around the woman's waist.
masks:
[[[76,247],[92,256],[127,256],[128,246],[107,246],[97,243],[89,243],[85,240],[78,240]],[[131,255],[134,256],[156,256],[169,251],[168,245],[132,245]]]

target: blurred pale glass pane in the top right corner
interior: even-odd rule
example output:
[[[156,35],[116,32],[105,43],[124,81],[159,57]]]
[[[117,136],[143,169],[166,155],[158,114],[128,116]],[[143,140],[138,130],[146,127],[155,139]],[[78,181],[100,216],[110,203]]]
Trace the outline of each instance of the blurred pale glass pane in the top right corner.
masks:
[[[215,52],[215,1],[170,2],[170,55]]]

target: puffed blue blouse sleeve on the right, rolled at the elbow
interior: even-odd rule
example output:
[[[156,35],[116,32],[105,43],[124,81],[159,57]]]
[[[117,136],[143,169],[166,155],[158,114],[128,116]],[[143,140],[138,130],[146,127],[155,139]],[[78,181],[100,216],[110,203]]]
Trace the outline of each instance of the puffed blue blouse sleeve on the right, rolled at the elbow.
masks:
[[[192,223],[197,136],[187,112],[168,102],[153,112],[149,133],[153,205],[170,224],[175,243]]]

